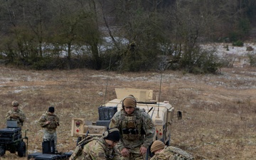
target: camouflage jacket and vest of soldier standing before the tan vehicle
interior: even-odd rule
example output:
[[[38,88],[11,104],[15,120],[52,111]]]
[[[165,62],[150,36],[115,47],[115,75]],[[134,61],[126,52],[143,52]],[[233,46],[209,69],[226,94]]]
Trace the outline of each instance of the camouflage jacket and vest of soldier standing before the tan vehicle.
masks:
[[[110,128],[118,128],[121,134],[119,149],[133,149],[137,146],[146,148],[152,143],[155,128],[149,114],[143,109],[135,108],[132,114],[121,110],[114,114]]]

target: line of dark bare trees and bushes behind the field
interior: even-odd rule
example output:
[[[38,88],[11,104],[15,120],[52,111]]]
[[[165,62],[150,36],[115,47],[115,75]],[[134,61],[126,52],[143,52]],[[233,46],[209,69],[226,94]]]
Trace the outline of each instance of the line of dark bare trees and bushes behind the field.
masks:
[[[200,44],[245,41],[255,12],[254,0],[3,0],[0,59],[38,70],[216,73],[220,60]]]

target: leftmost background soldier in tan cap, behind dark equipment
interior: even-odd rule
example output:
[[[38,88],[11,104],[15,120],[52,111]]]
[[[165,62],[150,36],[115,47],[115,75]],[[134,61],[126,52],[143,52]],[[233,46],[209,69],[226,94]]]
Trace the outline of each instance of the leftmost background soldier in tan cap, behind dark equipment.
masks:
[[[22,127],[26,119],[25,114],[22,110],[18,109],[18,102],[16,100],[11,102],[11,106],[13,108],[6,113],[6,120],[16,120],[18,127]]]

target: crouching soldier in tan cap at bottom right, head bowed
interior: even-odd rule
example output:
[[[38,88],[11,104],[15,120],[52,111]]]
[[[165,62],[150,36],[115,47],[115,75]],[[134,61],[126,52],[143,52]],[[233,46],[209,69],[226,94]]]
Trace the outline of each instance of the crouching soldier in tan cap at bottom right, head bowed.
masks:
[[[193,156],[174,146],[165,146],[163,142],[156,140],[150,151],[154,156],[150,160],[192,160]]]

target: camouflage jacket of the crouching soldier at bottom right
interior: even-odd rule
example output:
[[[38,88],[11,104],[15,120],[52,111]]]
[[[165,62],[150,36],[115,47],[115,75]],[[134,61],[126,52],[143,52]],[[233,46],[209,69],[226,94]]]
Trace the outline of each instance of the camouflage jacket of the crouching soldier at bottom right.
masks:
[[[182,149],[168,146],[154,155],[150,160],[192,160],[193,156]]]

